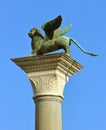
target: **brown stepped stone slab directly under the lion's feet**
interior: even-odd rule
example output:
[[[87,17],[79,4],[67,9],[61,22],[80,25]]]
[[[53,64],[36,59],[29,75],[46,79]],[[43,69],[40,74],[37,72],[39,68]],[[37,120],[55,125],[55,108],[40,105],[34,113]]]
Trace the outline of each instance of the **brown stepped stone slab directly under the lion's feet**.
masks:
[[[83,68],[65,53],[11,59],[26,73],[59,70],[69,76]]]

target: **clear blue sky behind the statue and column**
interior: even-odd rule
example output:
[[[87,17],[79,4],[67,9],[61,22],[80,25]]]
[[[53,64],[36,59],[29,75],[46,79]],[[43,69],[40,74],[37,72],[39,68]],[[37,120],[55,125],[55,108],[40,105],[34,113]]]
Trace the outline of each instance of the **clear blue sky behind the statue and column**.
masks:
[[[84,66],[70,77],[62,104],[63,130],[106,130],[106,0],[3,0],[0,2],[0,130],[34,130],[35,105],[26,74],[10,58],[31,52],[27,33],[62,15],[74,44],[71,57]]]

